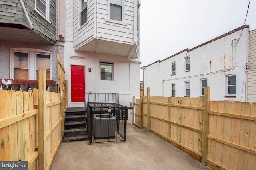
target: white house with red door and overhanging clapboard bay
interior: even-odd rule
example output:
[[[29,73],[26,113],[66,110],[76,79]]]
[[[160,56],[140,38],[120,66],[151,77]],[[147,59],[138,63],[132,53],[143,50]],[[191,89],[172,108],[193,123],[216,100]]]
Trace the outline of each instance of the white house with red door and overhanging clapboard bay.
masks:
[[[119,93],[119,104],[128,107],[139,98],[139,6],[139,0],[61,1],[68,107],[84,107],[84,92]]]

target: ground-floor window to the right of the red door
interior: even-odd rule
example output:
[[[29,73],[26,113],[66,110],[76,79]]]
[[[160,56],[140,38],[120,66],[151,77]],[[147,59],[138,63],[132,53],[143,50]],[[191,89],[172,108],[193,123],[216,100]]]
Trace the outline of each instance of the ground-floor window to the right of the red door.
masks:
[[[100,62],[100,80],[113,80],[113,63]]]

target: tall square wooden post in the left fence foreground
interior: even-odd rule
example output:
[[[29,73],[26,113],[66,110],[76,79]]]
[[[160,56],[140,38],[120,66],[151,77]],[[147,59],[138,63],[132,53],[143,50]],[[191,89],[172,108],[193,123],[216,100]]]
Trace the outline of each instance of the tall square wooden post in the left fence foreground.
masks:
[[[46,110],[46,70],[39,70],[38,78],[38,170],[46,169],[46,134],[44,128]]]

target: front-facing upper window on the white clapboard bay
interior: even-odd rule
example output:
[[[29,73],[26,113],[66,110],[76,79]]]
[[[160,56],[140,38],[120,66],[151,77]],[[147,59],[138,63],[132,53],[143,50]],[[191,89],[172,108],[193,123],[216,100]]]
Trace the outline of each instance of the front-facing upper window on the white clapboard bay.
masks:
[[[122,0],[110,0],[110,19],[122,21]]]

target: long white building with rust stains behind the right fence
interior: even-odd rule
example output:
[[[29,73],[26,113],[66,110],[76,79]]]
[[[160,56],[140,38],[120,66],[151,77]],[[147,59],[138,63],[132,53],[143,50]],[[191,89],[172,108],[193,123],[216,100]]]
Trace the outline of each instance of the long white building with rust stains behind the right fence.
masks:
[[[192,49],[185,49],[144,69],[152,96],[200,97],[246,101],[249,26],[244,25]],[[145,90],[146,93],[146,90]]]

